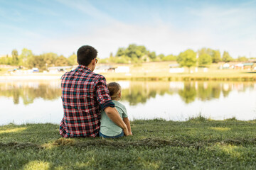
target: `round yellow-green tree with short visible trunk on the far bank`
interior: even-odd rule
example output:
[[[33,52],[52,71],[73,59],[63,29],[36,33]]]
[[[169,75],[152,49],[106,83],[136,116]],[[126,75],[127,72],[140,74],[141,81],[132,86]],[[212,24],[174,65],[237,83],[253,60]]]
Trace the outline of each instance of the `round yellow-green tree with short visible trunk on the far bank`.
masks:
[[[178,55],[177,62],[181,67],[188,67],[190,71],[190,68],[196,65],[196,52],[193,50],[186,50],[185,52],[181,52]]]

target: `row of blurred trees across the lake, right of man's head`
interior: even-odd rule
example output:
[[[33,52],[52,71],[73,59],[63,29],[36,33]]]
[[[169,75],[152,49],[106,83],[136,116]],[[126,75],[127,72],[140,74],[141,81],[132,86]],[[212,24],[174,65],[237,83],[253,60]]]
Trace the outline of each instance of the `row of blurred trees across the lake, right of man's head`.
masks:
[[[110,54],[110,57],[101,60],[103,63],[142,63],[142,62],[161,62],[161,61],[176,61],[181,67],[192,67],[198,64],[199,67],[208,67],[212,63],[218,62],[246,62],[248,59],[245,56],[239,56],[234,59],[227,51],[220,54],[220,50],[213,50],[203,47],[197,52],[186,50],[180,52],[179,55],[156,55],[156,52],[151,52],[143,45],[131,44],[127,48],[119,47],[116,55]]]

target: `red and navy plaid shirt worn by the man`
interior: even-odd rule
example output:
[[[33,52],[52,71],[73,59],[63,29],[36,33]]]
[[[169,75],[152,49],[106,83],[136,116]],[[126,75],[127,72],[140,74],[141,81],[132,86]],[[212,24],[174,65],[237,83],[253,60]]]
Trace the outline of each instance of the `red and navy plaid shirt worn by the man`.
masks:
[[[112,105],[105,77],[79,65],[61,77],[63,137],[95,137],[100,129],[100,106]]]

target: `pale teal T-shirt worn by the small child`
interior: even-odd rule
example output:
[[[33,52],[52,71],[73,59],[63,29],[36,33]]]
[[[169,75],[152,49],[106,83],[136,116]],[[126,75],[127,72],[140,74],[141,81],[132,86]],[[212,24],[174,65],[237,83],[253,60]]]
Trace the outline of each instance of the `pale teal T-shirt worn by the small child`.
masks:
[[[122,103],[119,103],[119,101],[112,101],[114,103],[115,108],[117,108],[117,111],[121,118],[127,118],[127,110]],[[112,122],[110,118],[107,116],[105,111],[101,112],[101,120],[100,120],[100,132],[103,135],[106,136],[117,136],[121,134],[122,128],[120,128],[118,125]]]

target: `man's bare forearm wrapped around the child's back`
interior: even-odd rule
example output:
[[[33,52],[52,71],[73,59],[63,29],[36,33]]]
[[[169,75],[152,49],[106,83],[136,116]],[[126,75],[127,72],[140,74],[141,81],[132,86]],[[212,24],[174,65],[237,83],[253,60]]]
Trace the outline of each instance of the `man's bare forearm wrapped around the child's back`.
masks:
[[[105,108],[104,111],[107,114],[107,116],[110,118],[110,120],[112,120],[116,125],[118,125],[120,128],[122,128],[122,130],[124,130],[124,135],[128,136],[129,132],[128,132],[127,125],[124,123],[124,121],[120,117],[117,109],[112,107],[107,107]]]

